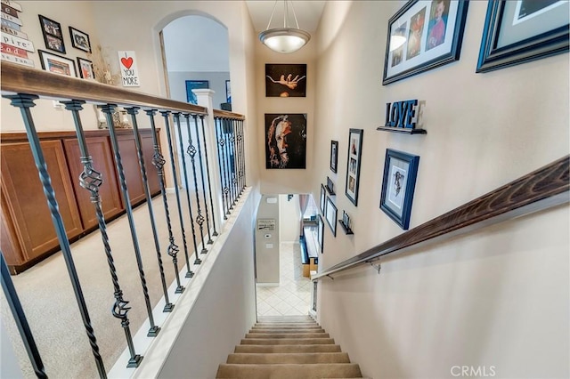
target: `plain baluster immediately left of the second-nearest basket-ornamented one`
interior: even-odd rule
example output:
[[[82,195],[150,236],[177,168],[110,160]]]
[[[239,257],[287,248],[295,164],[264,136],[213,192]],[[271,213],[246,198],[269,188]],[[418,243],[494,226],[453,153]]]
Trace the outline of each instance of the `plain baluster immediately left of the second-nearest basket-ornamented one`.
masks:
[[[136,145],[136,155],[139,158],[139,166],[141,167],[142,185],[144,187],[144,195],[146,196],[146,205],[149,208],[151,217],[152,237],[154,238],[154,247],[157,252],[157,260],[159,262],[160,282],[162,284],[162,293],[164,294],[165,306],[162,311],[171,312],[175,304],[168,299],[167,279],[164,276],[164,267],[162,265],[162,254],[160,253],[159,233],[157,232],[157,224],[154,221],[154,212],[152,210],[151,189],[149,189],[149,180],[146,174],[146,166],[144,165],[144,157],[142,156],[142,142],[139,134],[139,125],[136,121],[138,107],[126,108],[126,113],[131,115],[133,121],[134,144]]]

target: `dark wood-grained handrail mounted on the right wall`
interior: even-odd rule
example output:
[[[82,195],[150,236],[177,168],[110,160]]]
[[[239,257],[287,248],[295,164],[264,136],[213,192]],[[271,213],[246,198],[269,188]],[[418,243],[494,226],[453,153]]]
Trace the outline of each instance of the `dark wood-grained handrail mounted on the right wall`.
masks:
[[[411,248],[568,203],[570,201],[569,158],[570,156],[562,157],[550,165],[511,181],[362,254],[340,262],[312,276],[311,279],[352,269],[383,255],[403,253]]]

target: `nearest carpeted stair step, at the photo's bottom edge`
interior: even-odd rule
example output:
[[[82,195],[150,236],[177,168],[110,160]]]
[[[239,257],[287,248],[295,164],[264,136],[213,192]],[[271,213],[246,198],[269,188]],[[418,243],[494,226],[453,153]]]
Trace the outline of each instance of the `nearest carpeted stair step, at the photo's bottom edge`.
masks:
[[[222,364],[217,378],[235,379],[320,379],[362,377],[360,367],[354,363],[315,363],[312,365],[233,365]]]

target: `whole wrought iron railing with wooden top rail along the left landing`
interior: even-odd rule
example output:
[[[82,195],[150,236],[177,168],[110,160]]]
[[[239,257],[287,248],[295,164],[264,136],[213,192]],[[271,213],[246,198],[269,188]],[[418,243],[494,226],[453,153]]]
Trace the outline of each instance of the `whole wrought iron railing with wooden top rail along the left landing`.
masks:
[[[146,204],[149,210],[149,218],[151,221],[151,230],[154,240],[154,248],[156,250],[157,264],[159,267],[160,286],[164,296],[165,307],[164,312],[170,312],[175,307],[168,297],[167,281],[165,278],[165,270],[171,270],[165,267],[163,262],[163,253],[161,250],[161,241],[159,240],[159,232],[157,223],[155,222],[155,212],[151,201],[151,190],[148,183],[149,171],[147,167],[151,163],[157,168],[160,196],[163,199],[164,212],[167,220],[168,241],[167,255],[171,258],[172,270],[175,271],[176,293],[182,293],[184,286],[181,284],[179,275],[178,253],[180,252],[180,244],[183,246],[185,277],[191,278],[194,273],[191,271],[192,264],[200,264],[198,251],[200,254],[208,253],[208,245],[214,243],[213,238],[218,236],[222,218],[226,219],[231,213],[233,206],[240,198],[240,194],[246,185],[246,165],[245,165],[245,148],[244,148],[244,117],[233,114],[231,112],[213,110],[216,119],[215,125],[208,125],[205,117],[208,116],[208,109],[179,102],[151,96],[144,93],[134,93],[122,90],[118,87],[110,85],[102,85],[82,79],[59,76],[47,73],[38,69],[28,69],[11,63],[2,63],[2,95],[11,101],[11,105],[20,109],[21,119],[26,129],[30,148],[34,157],[37,172],[42,182],[45,198],[49,206],[53,226],[61,247],[69,278],[76,297],[77,306],[80,310],[81,318],[85,327],[88,343],[93,352],[95,364],[100,377],[106,377],[106,370],[103,365],[103,359],[95,337],[96,331],[92,326],[90,319],[90,310],[87,309],[85,297],[82,291],[80,278],[73,257],[71,255],[71,245],[66,234],[65,226],[61,217],[58,202],[54,193],[52,179],[48,173],[43,155],[42,147],[38,138],[35,125],[33,107],[40,97],[50,99],[58,99],[64,105],[65,109],[71,112],[73,117],[75,130],[77,133],[77,141],[81,153],[81,165],[83,172],[77,180],[80,186],[89,191],[90,200],[93,203],[94,211],[97,218],[98,228],[102,238],[103,250],[108,262],[110,277],[113,286],[114,303],[112,305],[111,314],[120,321],[121,327],[124,329],[126,346],[130,353],[130,359],[125,362],[127,367],[138,367],[142,360],[142,355],[135,351],[133,336],[130,330],[130,322],[128,312],[131,308],[129,302],[125,299],[121,286],[119,285],[118,270],[115,267],[114,252],[110,246],[110,237],[108,227],[102,210],[102,198],[99,190],[102,186],[102,174],[97,171],[96,163],[88,151],[85,139],[84,127],[82,125],[82,114],[86,103],[93,103],[101,109],[106,123],[109,127],[110,145],[113,152],[114,163],[118,173],[119,190],[123,198],[126,208],[126,218],[129,223],[130,236],[133,241],[134,255],[141,280],[142,294],[146,307],[147,319],[149,321],[148,336],[153,337],[159,334],[160,327],[154,320],[149,289],[145,276],[141,258],[141,246],[137,236],[137,230],[134,224],[133,208],[131,199],[129,198],[129,190],[126,185],[126,173],[123,166],[123,157],[119,149],[117,133],[116,133],[116,117],[114,114],[118,111],[118,107],[126,110],[126,114],[130,116],[133,127],[134,141],[136,145],[136,153],[138,157],[138,165],[142,175],[144,186],[144,194]],[[139,121],[141,116],[139,112],[143,111],[145,117],[151,125],[154,155],[152,161],[145,161],[142,142],[139,131]],[[158,116],[163,118],[166,134],[167,134],[167,157],[170,160],[172,169],[172,181],[175,192],[178,219],[181,224],[182,241],[175,240],[175,233],[172,230],[172,215],[167,202],[167,180],[165,177],[166,158],[162,155],[159,148],[159,141],[156,133],[156,120]],[[90,115],[93,116],[93,115]],[[183,127],[186,128],[188,141],[183,141]],[[214,128],[215,132],[206,133],[209,128]],[[175,162],[175,136],[178,136],[178,149],[182,159],[183,183],[179,178],[177,165]],[[216,135],[216,141],[209,141],[208,135]],[[211,153],[216,149],[214,154]],[[208,154],[208,151],[210,154]],[[185,154],[188,154],[188,157]],[[188,159],[190,159],[191,170],[187,167]],[[218,174],[211,167],[219,167]],[[193,188],[192,184],[193,183]],[[219,183],[216,187],[214,183]],[[181,186],[185,190],[181,189]],[[185,193],[188,209],[183,209],[181,198]],[[193,199],[192,199],[193,198]],[[216,199],[216,201],[215,201]],[[220,200],[221,201],[218,201]],[[222,204],[222,208],[217,206]],[[190,223],[186,217],[189,216]],[[190,227],[187,235],[186,228]],[[191,234],[191,236],[190,236]],[[192,238],[189,244],[189,238]],[[194,260],[191,261],[191,254]],[[18,295],[12,285],[12,278],[9,275],[4,254],[2,256],[2,286],[6,298],[11,305],[12,314],[19,326],[20,335],[24,341],[24,345],[28,350],[29,359],[32,367],[38,377],[46,377],[45,368],[37,351],[34,338],[26,321],[24,310],[18,301]],[[110,294],[111,296],[111,294]],[[156,303],[156,302],[154,302]],[[107,309],[106,306],[103,308]],[[49,372],[49,367],[47,368]]]

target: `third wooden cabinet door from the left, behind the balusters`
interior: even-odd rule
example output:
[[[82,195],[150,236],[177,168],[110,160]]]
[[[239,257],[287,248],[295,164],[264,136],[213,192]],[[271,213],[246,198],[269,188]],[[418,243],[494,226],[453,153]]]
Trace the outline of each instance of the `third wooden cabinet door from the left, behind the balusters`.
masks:
[[[133,131],[117,136],[118,149],[121,153],[121,161],[125,172],[126,187],[131,205],[142,202],[146,197],[142,187],[141,166],[136,154]]]

